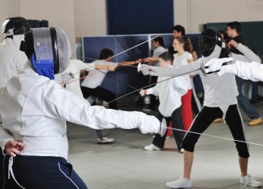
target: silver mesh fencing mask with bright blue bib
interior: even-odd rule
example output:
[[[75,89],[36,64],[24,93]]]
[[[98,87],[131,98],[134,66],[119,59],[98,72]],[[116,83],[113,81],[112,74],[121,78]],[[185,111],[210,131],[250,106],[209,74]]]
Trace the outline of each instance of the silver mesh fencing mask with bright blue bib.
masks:
[[[26,52],[39,75],[54,79],[54,74],[69,66],[69,39],[60,28],[33,28],[26,34],[20,50]]]

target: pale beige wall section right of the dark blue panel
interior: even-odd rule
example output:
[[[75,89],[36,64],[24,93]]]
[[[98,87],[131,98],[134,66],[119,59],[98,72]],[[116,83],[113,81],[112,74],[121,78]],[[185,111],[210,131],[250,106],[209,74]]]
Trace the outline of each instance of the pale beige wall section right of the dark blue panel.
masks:
[[[174,0],[174,24],[201,32],[205,23],[263,21],[262,0]]]

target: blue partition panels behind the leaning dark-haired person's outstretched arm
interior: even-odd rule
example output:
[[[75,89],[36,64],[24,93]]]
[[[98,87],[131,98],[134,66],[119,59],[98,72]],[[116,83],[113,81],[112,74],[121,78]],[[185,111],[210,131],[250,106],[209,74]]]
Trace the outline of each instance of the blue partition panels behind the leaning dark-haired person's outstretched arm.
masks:
[[[109,48],[114,51],[114,54],[119,54],[112,59],[113,62],[121,61],[135,61],[139,58],[149,57],[149,46],[147,41],[147,34],[141,35],[116,35],[116,36],[103,36],[103,37],[83,37],[82,38],[82,52],[84,62],[92,62],[92,59],[98,59],[100,50],[103,48]],[[128,50],[140,43],[142,45]],[[112,79],[115,78],[115,79]],[[114,92],[118,95],[127,94],[134,90],[123,83],[116,81],[123,81],[128,83],[134,88],[142,88],[149,85],[149,77],[143,76],[138,73],[136,68],[129,66],[120,67],[116,69],[116,72],[108,72],[107,77],[102,82],[102,87]]]

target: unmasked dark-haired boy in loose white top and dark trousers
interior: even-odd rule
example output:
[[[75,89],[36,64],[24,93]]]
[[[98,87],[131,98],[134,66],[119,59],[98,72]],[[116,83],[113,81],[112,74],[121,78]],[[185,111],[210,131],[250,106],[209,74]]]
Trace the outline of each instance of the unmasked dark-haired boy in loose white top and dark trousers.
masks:
[[[158,61],[163,68],[173,68],[172,61],[174,57],[170,52],[160,54]],[[188,92],[189,76],[181,77],[158,77],[156,86],[141,90],[140,94],[154,94],[159,97],[160,105],[158,107],[158,119],[165,118],[167,123],[172,122],[172,128],[184,130],[182,115],[181,115],[181,97]],[[183,141],[184,132],[173,132],[179,152],[183,152],[181,144]],[[145,146],[145,150],[161,150],[165,143],[166,135],[161,137],[156,134],[152,143]]]

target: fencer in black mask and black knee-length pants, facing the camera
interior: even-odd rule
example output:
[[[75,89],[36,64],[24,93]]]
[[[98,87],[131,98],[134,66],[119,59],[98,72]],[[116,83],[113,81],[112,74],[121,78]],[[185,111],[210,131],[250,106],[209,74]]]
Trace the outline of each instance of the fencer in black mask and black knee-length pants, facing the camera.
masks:
[[[222,38],[215,30],[210,28],[203,30],[199,37],[199,48],[202,57],[188,66],[181,66],[175,69],[163,69],[154,68],[153,66],[141,66],[143,74],[151,74],[158,76],[174,76],[179,74],[197,74],[201,73],[201,66],[203,63],[207,63],[212,58],[219,57],[233,57],[240,61],[260,61],[260,58],[253,53],[252,50],[246,48],[241,43],[238,44],[237,50],[242,54],[234,54],[224,49],[224,43]],[[190,174],[192,170],[192,163],[194,160],[194,147],[197,143],[200,135],[192,134],[191,132],[203,133],[212,121],[219,117],[224,117],[228,127],[231,130],[233,138],[239,141],[246,141],[245,128],[242,116],[239,113],[237,106],[237,85],[235,82],[234,74],[224,74],[219,77],[217,74],[208,74],[204,76],[200,74],[203,82],[203,88],[205,90],[205,99],[203,102],[203,108],[194,118],[190,127],[190,132],[185,134],[183,138],[182,148],[184,149],[184,172],[183,177],[175,181],[167,182],[166,185],[170,188],[191,188],[192,182],[190,180]],[[239,167],[242,177],[240,183],[247,184],[252,187],[261,187],[262,183],[257,181],[251,175],[248,175],[248,157],[249,150],[246,143],[235,141],[238,151]]]

